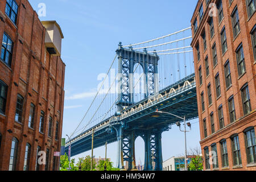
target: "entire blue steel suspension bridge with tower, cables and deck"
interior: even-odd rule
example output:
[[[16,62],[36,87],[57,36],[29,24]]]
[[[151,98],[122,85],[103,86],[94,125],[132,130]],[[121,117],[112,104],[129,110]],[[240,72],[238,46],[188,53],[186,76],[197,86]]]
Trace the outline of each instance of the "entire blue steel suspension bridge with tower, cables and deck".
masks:
[[[117,167],[136,168],[135,139],[144,140],[144,170],[162,170],[164,131],[179,118],[198,117],[196,81],[193,68],[191,27],[148,40],[122,46],[79,126],[65,144],[71,156],[117,142]],[[115,74],[117,72],[117,74]],[[182,122],[182,121],[181,121]]]

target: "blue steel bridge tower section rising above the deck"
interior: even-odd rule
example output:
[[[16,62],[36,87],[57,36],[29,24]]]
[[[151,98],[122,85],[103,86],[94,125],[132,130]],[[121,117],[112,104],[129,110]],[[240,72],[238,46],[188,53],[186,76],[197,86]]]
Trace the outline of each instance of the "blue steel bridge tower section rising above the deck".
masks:
[[[132,47],[125,49],[120,42],[118,55],[118,111],[124,106],[134,104],[134,65],[140,64],[143,68],[144,98],[156,94],[158,89],[158,61],[159,56],[154,53],[134,51]]]

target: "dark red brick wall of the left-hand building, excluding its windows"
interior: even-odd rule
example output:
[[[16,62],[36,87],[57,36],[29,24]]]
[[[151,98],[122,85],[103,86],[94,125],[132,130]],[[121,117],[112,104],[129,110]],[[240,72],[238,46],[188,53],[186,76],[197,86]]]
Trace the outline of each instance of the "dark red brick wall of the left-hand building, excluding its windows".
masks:
[[[0,170],[9,169],[13,137],[19,140],[16,170],[23,170],[27,143],[32,146],[29,169],[35,170],[38,146],[42,147],[44,151],[47,148],[50,150],[49,169],[52,169],[53,152],[60,151],[65,64],[59,56],[51,56],[46,51],[44,46],[46,30],[30,3],[27,0],[16,0],[16,2],[19,5],[19,10],[15,26],[5,14],[6,0],[0,1],[0,16],[5,21],[0,20],[0,42],[2,43],[3,32],[6,32],[14,42],[11,67],[0,61],[0,80],[9,86],[6,112],[0,114],[0,133],[2,134]],[[15,86],[14,82],[18,86]],[[18,93],[24,97],[22,123],[14,122]],[[34,129],[28,128],[31,102],[36,106]],[[39,133],[41,110],[45,112],[44,134]],[[53,118],[51,138],[48,137],[49,116]],[[55,140],[56,121],[59,122],[59,138],[57,140]],[[9,129],[13,133],[7,132]],[[24,137],[24,134],[27,137]],[[44,170],[44,166],[41,166],[40,169]]]

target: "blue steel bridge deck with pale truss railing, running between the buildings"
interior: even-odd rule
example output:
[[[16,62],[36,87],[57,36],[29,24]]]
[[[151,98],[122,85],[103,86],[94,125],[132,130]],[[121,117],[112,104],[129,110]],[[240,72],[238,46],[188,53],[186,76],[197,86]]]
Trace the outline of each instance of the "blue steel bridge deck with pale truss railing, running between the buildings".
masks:
[[[184,116],[187,120],[198,117],[195,74],[183,78],[179,82],[160,90],[159,94],[146,98],[137,104],[122,111],[119,116],[113,116],[94,126],[94,148],[104,146],[106,142],[117,141],[115,132],[111,133],[109,127],[120,121],[127,124],[126,130],[152,130],[167,131],[180,119],[169,114],[158,114],[155,110],[167,111]],[[85,131],[72,139],[71,156],[91,150],[92,129]],[[66,143],[65,152],[68,153]]]

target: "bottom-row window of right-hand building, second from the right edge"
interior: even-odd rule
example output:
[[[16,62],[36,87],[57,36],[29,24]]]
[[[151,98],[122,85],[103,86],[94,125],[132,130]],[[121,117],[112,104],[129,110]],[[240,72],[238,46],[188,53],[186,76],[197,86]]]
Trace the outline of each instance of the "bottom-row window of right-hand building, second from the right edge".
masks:
[[[242,161],[241,161],[241,152],[240,152],[238,135],[232,137],[231,142],[232,142],[232,151],[233,151],[233,165],[240,166],[242,164]]]

